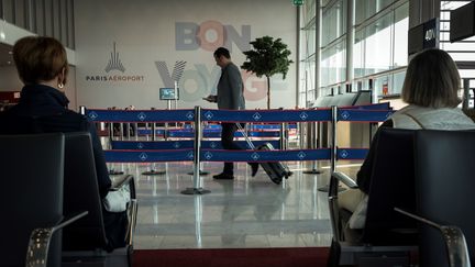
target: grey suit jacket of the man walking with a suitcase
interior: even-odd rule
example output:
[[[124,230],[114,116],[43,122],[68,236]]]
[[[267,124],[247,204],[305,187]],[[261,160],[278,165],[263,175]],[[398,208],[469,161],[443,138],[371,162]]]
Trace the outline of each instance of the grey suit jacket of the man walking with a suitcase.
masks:
[[[222,68],[218,82],[218,109],[244,110],[243,92],[241,71],[236,65],[230,63]]]

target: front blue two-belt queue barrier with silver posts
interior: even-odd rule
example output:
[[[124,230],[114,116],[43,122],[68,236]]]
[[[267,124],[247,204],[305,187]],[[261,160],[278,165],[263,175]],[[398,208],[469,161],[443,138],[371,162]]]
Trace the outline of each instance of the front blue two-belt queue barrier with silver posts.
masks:
[[[84,110],[84,108],[81,108]],[[335,170],[338,159],[364,159],[366,148],[339,148],[336,145],[336,124],[339,121],[349,122],[383,122],[390,116],[393,110],[387,103],[314,110],[210,110],[195,107],[195,110],[87,110],[86,114],[92,122],[134,122],[153,123],[155,136],[156,122],[194,122],[192,147],[189,143],[157,142],[169,149],[151,149],[155,144],[134,142],[132,146],[139,149],[111,149],[106,151],[108,163],[156,163],[156,162],[194,162],[194,187],[183,191],[185,194],[202,194],[210,192],[202,188],[200,178],[201,162],[287,162],[287,160],[331,160],[331,170]],[[317,149],[276,149],[276,151],[224,151],[209,147],[202,141],[202,122],[247,122],[247,123],[296,123],[296,122],[331,122],[332,144],[330,148]],[[280,132],[284,130],[281,124]],[[122,127],[121,127],[122,130]],[[135,133],[136,135],[136,133]],[[136,135],[137,136],[137,135]],[[285,134],[281,134],[281,138]],[[154,142],[155,143],[155,142]],[[115,143],[115,148],[126,143]],[[146,145],[145,145],[146,144]],[[161,147],[156,145],[156,147]],[[216,143],[214,143],[216,144]],[[147,147],[146,147],[147,146]],[[186,148],[183,148],[186,147]],[[281,147],[281,146],[280,146]],[[162,148],[162,147],[161,147]]]

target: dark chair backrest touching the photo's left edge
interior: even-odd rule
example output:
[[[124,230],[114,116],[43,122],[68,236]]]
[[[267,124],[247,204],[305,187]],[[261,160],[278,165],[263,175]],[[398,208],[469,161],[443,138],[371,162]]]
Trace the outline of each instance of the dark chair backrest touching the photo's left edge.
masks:
[[[0,135],[0,265],[24,266],[32,230],[63,219],[64,135]],[[57,233],[48,266],[58,266],[59,252]]]

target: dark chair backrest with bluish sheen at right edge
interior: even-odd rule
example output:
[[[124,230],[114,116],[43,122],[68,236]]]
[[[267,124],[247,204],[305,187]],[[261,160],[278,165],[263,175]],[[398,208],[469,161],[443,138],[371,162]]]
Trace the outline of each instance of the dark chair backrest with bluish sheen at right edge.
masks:
[[[418,131],[415,145],[417,213],[461,227],[474,263],[475,132]],[[444,266],[446,253],[440,232],[421,226],[422,266]]]

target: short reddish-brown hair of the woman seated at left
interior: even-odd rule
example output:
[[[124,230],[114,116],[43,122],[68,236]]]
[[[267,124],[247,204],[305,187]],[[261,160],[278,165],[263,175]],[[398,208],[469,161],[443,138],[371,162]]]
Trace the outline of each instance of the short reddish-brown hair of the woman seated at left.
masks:
[[[69,70],[66,49],[59,41],[45,36],[26,36],[13,45],[13,60],[24,84],[38,84],[58,76],[65,69],[63,84]]]

